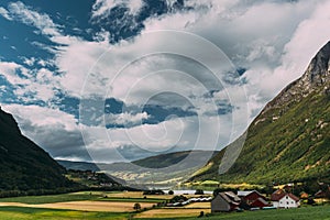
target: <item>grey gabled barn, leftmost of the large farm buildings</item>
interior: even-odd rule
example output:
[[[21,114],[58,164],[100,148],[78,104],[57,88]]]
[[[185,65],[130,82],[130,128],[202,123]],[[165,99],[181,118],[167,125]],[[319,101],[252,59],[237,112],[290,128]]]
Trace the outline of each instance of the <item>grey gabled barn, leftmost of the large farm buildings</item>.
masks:
[[[240,202],[240,197],[232,191],[219,193],[211,201],[211,212],[232,211],[239,208]]]

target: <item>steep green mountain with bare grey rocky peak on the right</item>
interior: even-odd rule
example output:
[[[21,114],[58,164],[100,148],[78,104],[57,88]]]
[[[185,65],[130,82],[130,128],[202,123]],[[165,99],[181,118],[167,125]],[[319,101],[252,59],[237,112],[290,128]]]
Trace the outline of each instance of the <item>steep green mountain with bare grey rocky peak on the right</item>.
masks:
[[[241,152],[237,147],[240,143],[243,143]],[[329,150],[330,42],[317,53],[299,79],[266,105],[241,138],[190,180],[253,184],[329,180]],[[232,157],[239,156],[228,172],[220,174],[226,170],[221,161],[231,156]]]

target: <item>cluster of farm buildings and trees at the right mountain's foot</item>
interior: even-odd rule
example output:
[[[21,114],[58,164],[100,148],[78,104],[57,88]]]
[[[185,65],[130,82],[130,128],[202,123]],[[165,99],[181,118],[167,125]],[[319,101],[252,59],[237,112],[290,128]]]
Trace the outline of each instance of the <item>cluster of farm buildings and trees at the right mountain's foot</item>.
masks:
[[[231,212],[243,210],[268,210],[268,209],[290,209],[299,208],[302,205],[324,205],[329,202],[330,186],[319,183],[320,188],[316,194],[310,195],[300,191],[299,195],[293,194],[294,184],[287,184],[278,187],[271,195],[265,195],[256,189],[254,190],[227,190],[213,191],[213,196],[204,194],[202,190],[196,190],[195,195],[200,196],[187,198],[185,195],[175,196],[165,206],[185,207],[194,202],[210,202],[211,213]],[[170,194],[169,190],[168,194]],[[173,193],[172,193],[173,194]]]

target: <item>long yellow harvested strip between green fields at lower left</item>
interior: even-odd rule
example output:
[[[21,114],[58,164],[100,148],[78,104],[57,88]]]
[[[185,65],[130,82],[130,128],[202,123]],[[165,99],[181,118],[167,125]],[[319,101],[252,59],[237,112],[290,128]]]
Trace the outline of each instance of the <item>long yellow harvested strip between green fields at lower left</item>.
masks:
[[[109,211],[109,212],[129,212],[134,211],[135,202],[119,202],[119,201],[68,201],[55,204],[28,205],[20,202],[0,202],[0,206],[15,207],[33,207],[33,208],[50,208],[50,209],[72,209],[80,211]],[[152,202],[140,202],[141,208],[151,208]]]

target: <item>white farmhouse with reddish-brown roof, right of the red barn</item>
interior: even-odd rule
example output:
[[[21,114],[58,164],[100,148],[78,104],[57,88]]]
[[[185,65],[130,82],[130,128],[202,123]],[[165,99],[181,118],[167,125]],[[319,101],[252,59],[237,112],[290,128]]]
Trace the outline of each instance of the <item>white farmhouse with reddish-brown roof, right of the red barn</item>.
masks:
[[[287,194],[278,189],[272,194],[271,200],[276,208],[298,208],[300,206],[299,198],[293,194]]]

